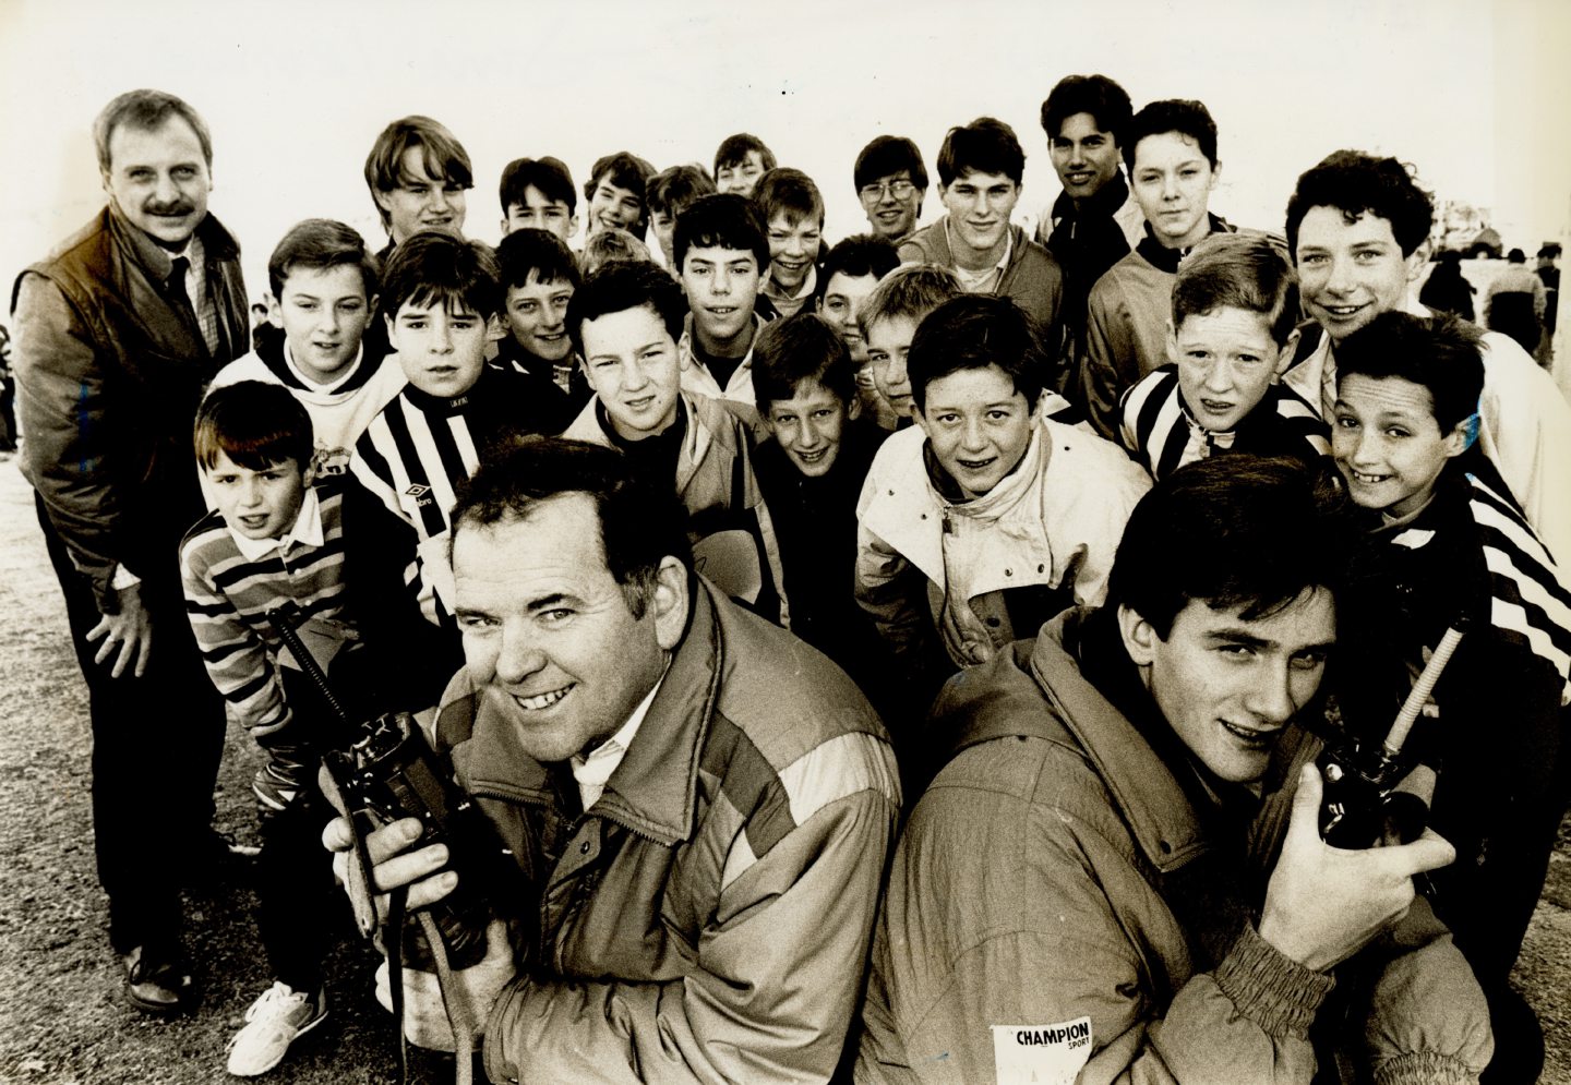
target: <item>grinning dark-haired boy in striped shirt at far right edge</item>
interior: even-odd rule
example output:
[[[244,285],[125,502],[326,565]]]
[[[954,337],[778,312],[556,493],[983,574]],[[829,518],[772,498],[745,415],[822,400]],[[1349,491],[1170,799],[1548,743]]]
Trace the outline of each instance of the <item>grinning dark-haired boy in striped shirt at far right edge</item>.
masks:
[[[1566,809],[1571,584],[1477,446],[1478,339],[1387,311],[1337,344],[1332,451],[1370,529],[1337,699],[1384,735],[1426,652],[1463,627],[1409,746],[1439,774],[1430,824],[1456,848],[1434,911],[1489,999],[1491,1072],[1525,1082],[1543,1038],[1507,980]]]

